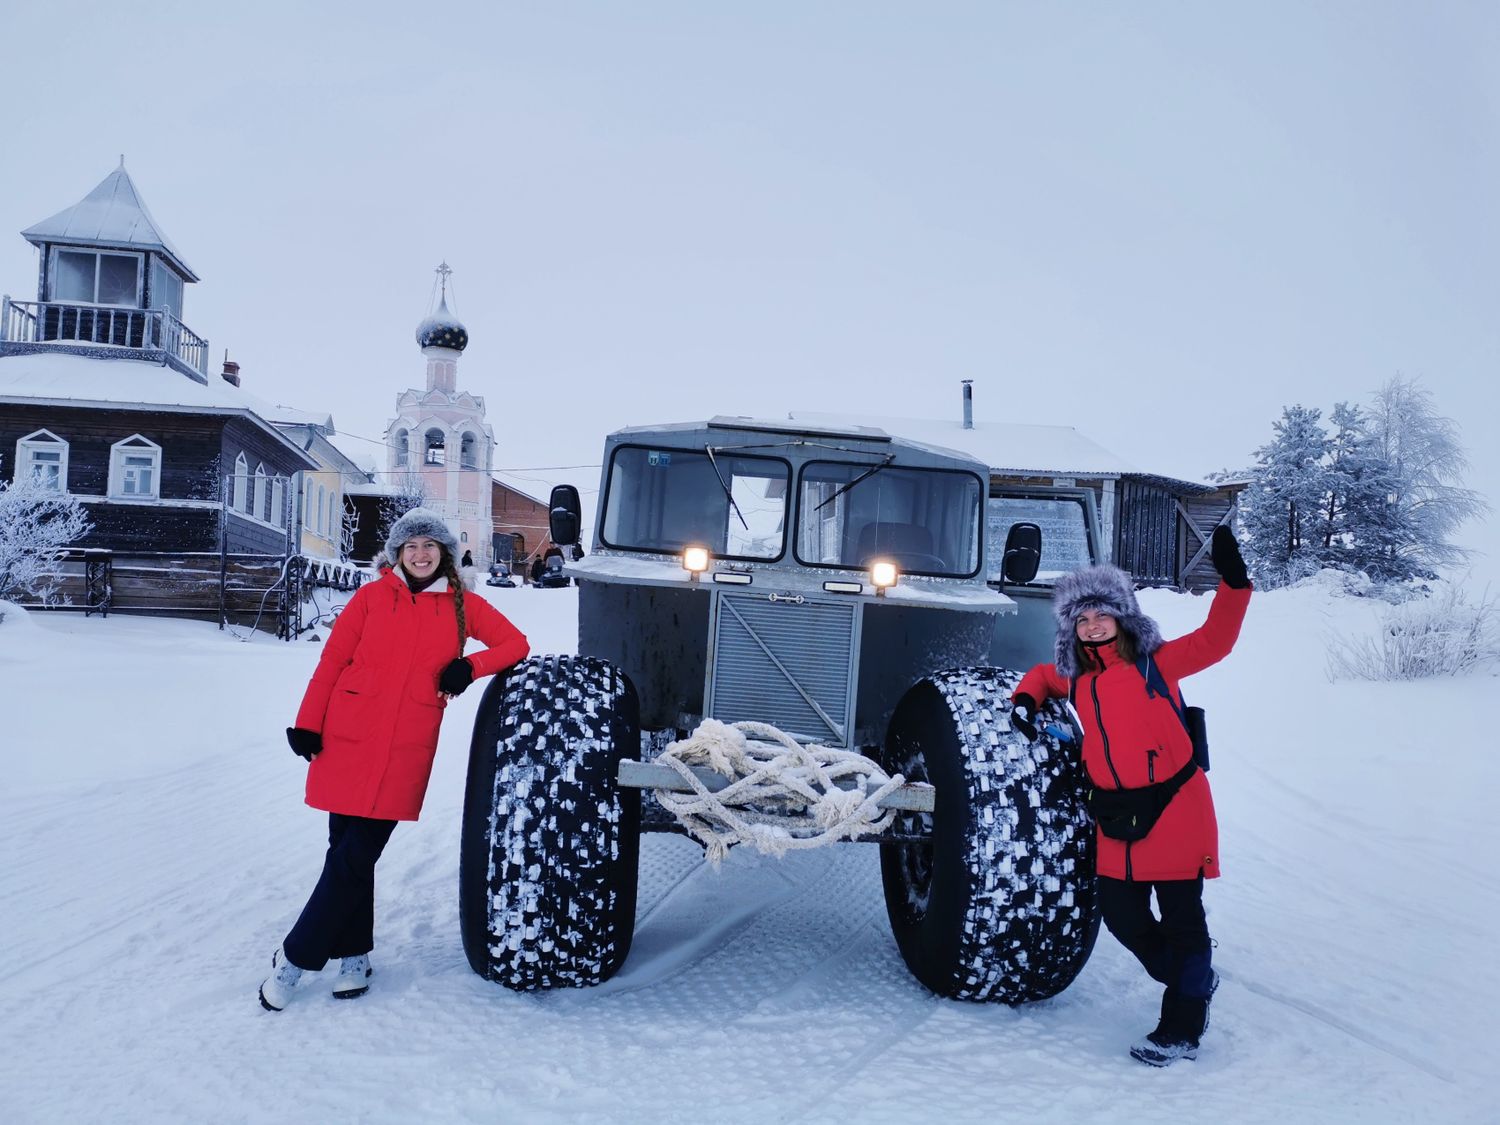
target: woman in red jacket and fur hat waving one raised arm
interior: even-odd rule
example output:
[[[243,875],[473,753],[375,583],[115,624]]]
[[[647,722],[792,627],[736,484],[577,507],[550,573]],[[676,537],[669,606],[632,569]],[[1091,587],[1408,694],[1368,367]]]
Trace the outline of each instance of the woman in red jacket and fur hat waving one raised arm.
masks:
[[[1040,704],[1053,696],[1074,700],[1083,724],[1083,765],[1089,783],[1106,796],[1168,778],[1180,783],[1143,838],[1112,838],[1102,824],[1098,828],[1104,924],[1166,986],[1156,1029],[1131,1047],[1134,1058],[1155,1066],[1197,1058],[1218,987],[1203,914],[1203,880],[1220,874],[1218,822],[1209,778],[1191,766],[1192,741],[1176,710],[1182,705],[1178,684],[1228,656],[1251,585],[1228,528],[1215,530],[1209,556],[1222,580],[1208,621],[1166,642],[1156,622],[1140,612],[1124,570],[1104,566],[1065,574],[1053,591],[1056,662],[1036,664],[1012,696],[1011,722],[1028,738],[1036,736]],[[1172,700],[1148,694],[1137,664],[1148,656]],[[1160,918],[1150,909],[1152,892]]]

